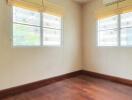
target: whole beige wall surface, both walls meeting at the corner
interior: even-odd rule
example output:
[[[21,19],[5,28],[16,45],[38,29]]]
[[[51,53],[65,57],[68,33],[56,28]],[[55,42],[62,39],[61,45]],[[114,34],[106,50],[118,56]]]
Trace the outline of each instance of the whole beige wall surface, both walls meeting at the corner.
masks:
[[[63,46],[13,48],[12,9],[6,0],[0,0],[0,90],[80,70],[82,66],[132,79],[132,48],[96,46],[95,12],[103,6],[102,0],[92,0],[83,9],[72,0],[50,1],[64,7]]]

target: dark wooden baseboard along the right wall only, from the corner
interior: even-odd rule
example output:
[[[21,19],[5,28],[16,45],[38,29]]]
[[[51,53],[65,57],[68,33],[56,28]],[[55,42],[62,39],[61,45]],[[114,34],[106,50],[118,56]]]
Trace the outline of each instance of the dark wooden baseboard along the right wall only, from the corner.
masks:
[[[119,78],[119,77],[115,77],[115,76],[110,76],[110,75],[105,75],[105,74],[100,74],[100,73],[91,72],[91,71],[84,71],[84,70],[81,73],[83,75],[88,75],[88,76],[91,76],[91,77],[101,78],[101,79],[109,80],[109,81],[112,81],[112,82],[132,86],[132,80]]]

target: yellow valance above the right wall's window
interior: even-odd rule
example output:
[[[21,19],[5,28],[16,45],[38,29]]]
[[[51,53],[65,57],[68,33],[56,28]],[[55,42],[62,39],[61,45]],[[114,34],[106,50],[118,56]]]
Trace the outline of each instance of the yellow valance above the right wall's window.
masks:
[[[114,3],[109,6],[104,6],[96,12],[97,19],[103,19],[109,16],[118,15],[132,11],[132,0],[125,0]]]

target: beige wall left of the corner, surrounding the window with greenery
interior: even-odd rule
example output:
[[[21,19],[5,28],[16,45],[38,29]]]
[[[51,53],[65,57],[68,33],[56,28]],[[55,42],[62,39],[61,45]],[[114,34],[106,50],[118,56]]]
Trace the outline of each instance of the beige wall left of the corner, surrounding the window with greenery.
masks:
[[[0,0],[0,90],[81,69],[81,7],[51,1],[64,7],[63,46],[13,48],[12,9]]]

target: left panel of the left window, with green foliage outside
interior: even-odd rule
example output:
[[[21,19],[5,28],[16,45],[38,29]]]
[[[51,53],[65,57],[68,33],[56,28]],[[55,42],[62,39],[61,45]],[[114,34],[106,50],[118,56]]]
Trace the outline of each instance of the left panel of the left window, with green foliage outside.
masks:
[[[13,46],[40,45],[40,14],[13,7]]]

